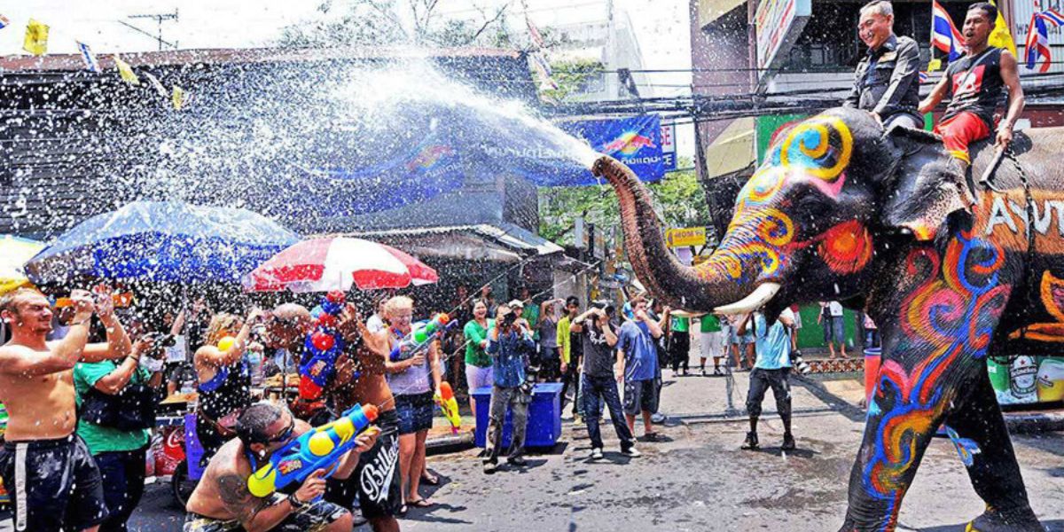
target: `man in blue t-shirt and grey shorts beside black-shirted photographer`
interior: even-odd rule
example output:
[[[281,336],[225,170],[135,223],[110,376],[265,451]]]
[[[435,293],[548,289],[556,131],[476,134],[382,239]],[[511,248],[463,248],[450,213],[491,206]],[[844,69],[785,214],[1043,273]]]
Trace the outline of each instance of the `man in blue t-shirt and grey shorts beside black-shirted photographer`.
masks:
[[[635,416],[643,413],[646,432],[643,442],[661,442],[661,434],[654,432],[651,415],[658,410],[658,394],[654,379],[658,377],[658,348],[655,338],[662,336],[662,328],[647,314],[647,300],[643,295],[633,297],[629,303],[633,319],[620,326],[617,349],[625,355],[624,367],[617,372],[617,382],[625,381],[625,417],[628,429],[635,432]]]

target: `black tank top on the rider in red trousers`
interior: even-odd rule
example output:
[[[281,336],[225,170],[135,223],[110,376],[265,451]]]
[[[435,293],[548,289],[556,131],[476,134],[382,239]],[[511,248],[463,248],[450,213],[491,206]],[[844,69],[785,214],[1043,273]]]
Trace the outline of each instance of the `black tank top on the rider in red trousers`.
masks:
[[[950,63],[946,76],[951,80],[952,98],[943,120],[961,112],[975,113],[994,130],[994,112],[1004,100],[1004,80],[1001,79],[1001,49],[991,47],[975,57],[965,55]]]

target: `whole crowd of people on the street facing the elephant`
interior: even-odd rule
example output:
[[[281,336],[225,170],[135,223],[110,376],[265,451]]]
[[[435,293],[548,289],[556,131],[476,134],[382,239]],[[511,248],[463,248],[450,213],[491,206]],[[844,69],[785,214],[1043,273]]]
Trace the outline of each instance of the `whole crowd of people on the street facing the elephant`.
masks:
[[[605,452],[605,409],[619,453],[637,458],[637,442],[666,439],[656,430],[662,370],[671,365],[686,375],[693,342],[703,376],[751,370],[743,447],[758,447],[760,404],[771,388],[786,427],[783,448],[794,448],[787,371],[797,316],[789,310],[767,326],[759,314],[689,314],[644,295],[619,310],[609,301],[520,295],[526,299],[496,303],[489,289],[472,299],[460,287],[451,315],[461,327],[398,359],[394,349],[430,313],[388,295],[373,300],[363,320],[347,303],[335,328],[348,348],[320,399],[264,402],[263,380],[297,371],[312,354],[318,318],[305,306],[234,314],[212,312],[200,299],[151,319],[135,307],[116,310],[103,287],[73,290],[59,309],[35,289],[10,293],[0,299],[10,331],[0,347],[0,401],[10,414],[0,478],[15,495],[16,529],[126,530],[144,493],[154,404],[193,392],[203,473],[187,502],[188,532],[349,530],[355,509],[373,530],[397,530],[409,508],[433,504],[420,486],[439,481],[426,466],[426,448],[445,380],[468,390],[473,413],[473,392],[491,389],[486,473],[498,470],[500,454],[510,467],[527,465],[528,409],[538,382],[562,383],[563,417],[586,426],[591,460]],[[359,436],[328,478],[313,475],[285,495],[248,492],[251,472],[275,452],[355,404],[379,410],[376,429]],[[508,411],[513,437],[503,449]]]

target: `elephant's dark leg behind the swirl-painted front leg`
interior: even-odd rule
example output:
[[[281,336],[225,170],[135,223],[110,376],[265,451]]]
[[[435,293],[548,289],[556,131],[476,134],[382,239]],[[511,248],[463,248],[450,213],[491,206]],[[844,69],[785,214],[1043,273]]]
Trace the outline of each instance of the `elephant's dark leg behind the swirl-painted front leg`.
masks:
[[[1042,531],[1027,499],[1004,417],[985,370],[970,396],[946,418],[950,437],[968,468],[971,486],[986,502],[986,512],[968,530]]]

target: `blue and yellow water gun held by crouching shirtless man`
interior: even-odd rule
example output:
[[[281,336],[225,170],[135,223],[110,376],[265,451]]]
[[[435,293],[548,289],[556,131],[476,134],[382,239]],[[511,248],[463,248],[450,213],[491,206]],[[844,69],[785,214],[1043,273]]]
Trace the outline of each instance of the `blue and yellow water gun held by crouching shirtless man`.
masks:
[[[248,491],[255,497],[268,497],[293,482],[302,483],[318,469],[328,468],[332,475],[339,459],[354,448],[354,437],[366,430],[377,415],[377,406],[355,404],[335,421],[306,431],[275,452],[266,465],[248,477]]]

